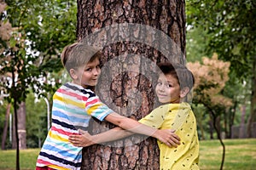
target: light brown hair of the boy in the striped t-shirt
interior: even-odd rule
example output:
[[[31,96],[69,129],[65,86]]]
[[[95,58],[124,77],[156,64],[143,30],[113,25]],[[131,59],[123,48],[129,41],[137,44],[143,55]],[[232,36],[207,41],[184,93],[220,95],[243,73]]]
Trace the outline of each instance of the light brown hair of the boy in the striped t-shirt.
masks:
[[[69,73],[70,69],[78,68],[81,65],[86,65],[94,59],[100,59],[102,53],[83,42],[75,42],[67,45],[61,53],[61,63]]]

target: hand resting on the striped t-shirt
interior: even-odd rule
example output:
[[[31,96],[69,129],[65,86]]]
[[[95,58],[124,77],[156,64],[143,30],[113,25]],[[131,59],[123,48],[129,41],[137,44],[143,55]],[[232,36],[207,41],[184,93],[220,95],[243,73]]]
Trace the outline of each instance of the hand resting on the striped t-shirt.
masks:
[[[74,146],[87,147],[95,144],[90,133],[87,133],[81,129],[79,129],[79,133],[80,134],[72,134],[68,137],[69,142],[71,142]]]

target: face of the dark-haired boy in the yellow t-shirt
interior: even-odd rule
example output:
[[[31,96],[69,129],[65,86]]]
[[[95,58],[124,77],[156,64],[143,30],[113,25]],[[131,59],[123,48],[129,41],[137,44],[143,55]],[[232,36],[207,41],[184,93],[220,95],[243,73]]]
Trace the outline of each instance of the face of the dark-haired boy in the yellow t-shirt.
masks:
[[[180,102],[180,86],[177,78],[172,77],[171,74],[160,75],[155,93],[160,103],[179,103]]]

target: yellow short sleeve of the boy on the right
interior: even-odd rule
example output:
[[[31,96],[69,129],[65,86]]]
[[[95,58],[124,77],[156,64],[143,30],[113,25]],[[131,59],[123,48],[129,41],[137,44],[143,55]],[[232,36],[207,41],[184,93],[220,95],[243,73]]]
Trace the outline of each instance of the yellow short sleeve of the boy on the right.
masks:
[[[139,120],[139,122],[149,127],[160,128],[165,121],[167,111],[168,105],[161,105]]]

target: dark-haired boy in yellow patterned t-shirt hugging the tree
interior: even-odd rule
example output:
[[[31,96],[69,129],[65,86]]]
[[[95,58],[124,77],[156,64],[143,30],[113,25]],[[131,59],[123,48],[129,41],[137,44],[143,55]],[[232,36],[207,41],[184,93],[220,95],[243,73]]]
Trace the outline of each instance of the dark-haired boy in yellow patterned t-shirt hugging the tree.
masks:
[[[175,130],[180,138],[180,145],[172,144],[175,147],[168,147],[158,140],[161,170],[199,169],[199,141],[196,120],[187,102],[187,95],[195,82],[194,76],[183,65],[161,64],[159,66],[161,74],[155,86],[155,93],[162,105],[139,122],[158,129]],[[131,134],[122,131],[119,127],[94,136],[80,132],[83,135],[71,135],[69,140],[74,145],[82,144],[84,147],[124,138]],[[109,136],[112,138],[109,139]]]

